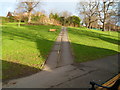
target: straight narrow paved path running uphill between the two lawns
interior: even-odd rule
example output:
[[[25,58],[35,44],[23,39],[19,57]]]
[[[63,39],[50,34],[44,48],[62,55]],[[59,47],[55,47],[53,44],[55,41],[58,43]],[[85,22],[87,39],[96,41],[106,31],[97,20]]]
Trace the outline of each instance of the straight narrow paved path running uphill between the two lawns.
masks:
[[[53,50],[47,59],[44,70],[70,65],[72,63],[73,57],[70,49],[67,30],[65,27],[62,27]]]

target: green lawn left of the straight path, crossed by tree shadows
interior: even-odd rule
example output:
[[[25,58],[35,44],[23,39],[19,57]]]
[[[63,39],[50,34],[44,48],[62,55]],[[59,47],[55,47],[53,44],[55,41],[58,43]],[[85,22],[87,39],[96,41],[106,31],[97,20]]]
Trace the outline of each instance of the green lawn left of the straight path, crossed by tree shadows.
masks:
[[[57,29],[49,32],[50,28]],[[3,81],[40,71],[47,59],[61,27],[52,25],[3,24],[2,70]]]

